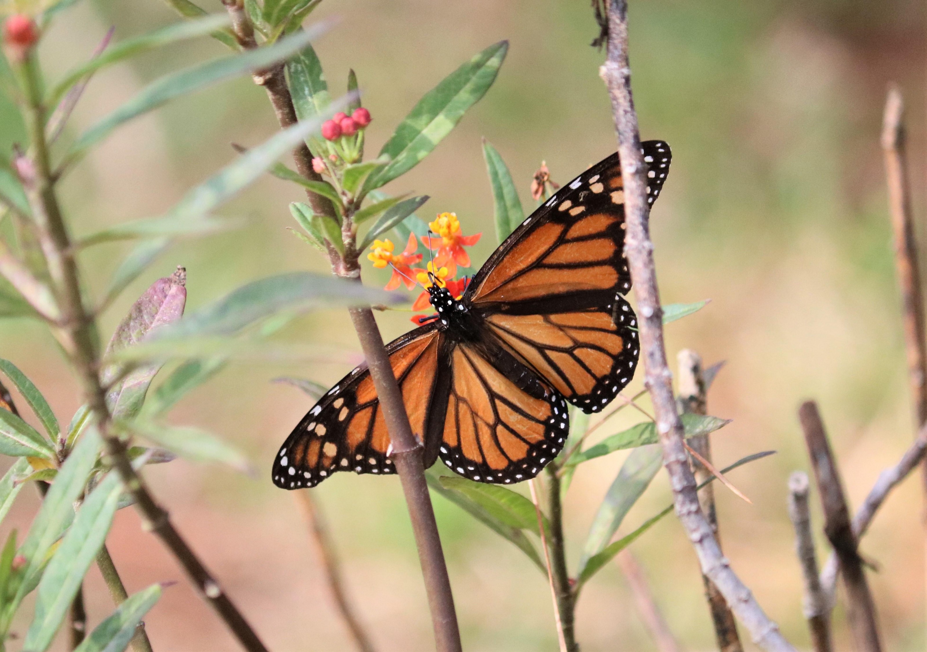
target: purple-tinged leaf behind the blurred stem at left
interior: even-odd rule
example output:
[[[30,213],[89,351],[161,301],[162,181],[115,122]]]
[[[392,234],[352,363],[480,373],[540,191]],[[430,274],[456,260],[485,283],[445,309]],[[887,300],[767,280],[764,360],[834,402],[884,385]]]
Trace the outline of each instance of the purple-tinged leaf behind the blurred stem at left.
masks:
[[[171,276],[155,281],[145,293],[133,303],[129,313],[109,340],[107,355],[127,349],[146,338],[155,329],[172,324],[184,316],[186,305],[186,271],[178,267]],[[158,374],[160,364],[145,364],[133,369],[128,376],[117,382],[108,391],[107,403],[114,418],[130,419],[138,414],[145,402],[145,395],[152,379]],[[104,369],[105,383],[120,374],[118,365]]]

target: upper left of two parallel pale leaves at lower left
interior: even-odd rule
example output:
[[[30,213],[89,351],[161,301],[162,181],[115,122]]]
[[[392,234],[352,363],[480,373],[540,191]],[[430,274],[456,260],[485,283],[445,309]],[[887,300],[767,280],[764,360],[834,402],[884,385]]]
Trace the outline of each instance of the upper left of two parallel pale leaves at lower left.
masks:
[[[67,530],[74,518],[74,501],[81,497],[84,485],[96,463],[102,441],[95,426],[88,428],[68,459],[58,469],[57,478],[45,494],[39,513],[32,520],[29,535],[19,548],[26,558],[14,605],[39,583],[46,556],[52,544]],[[15,609],[14,609],[15,610]]]

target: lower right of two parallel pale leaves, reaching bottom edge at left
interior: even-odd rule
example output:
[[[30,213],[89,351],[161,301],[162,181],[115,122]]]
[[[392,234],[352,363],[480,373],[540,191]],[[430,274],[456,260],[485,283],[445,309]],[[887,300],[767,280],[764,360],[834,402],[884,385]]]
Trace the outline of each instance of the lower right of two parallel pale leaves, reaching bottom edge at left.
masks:
[[[39,582],[35,615],[23,649],[43,652],[51,645],[70,603],[94,562],[119,503],[121,481],[113,471],[83,501],[77,516],[52,556]]]

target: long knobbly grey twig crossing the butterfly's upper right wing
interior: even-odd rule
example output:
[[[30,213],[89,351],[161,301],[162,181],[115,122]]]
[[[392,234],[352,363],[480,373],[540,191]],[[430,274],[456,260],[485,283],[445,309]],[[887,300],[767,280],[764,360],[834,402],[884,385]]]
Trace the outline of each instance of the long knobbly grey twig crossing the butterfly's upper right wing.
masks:
[[[641,138],[631,97],[626,0],[612,0],[609,3],[608,27],[608,55],[600,73],[611,96],[621,156],[625,217],[628,224],[625,253],[641,313],[639,327],[645,386],[650,390],[654,404],[656,429],[663,446],[664,465],[669,474],[676,513],[692,541],[702,571],[724,595],[734,615],[753,635],[756,644],[767,650],[793,652],[794,647],[785,640],[776,623],[769,620],[750,590],[730,569],[730,562],[721,553],[711,525],[699,506],[689,457],[682,446],[682,421],[676,410],[670,384],[672,375],[667,365],[667,351],[663,341],[660,295],[654,270],[654,243],[650,239],[648,226],[647,169],[641,155]]]

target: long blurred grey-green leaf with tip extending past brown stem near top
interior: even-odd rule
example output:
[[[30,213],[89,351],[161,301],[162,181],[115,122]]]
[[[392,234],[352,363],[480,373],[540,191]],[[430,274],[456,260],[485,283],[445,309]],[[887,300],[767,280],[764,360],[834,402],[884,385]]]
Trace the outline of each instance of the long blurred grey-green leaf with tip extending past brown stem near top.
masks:
[[[81,156],[88,147],[103,140],[114,129],[169,100],[201,90],[212,83],[221,82],[239,75],[262,70],[274,63],[290,58],[294,53],[306,47],[326,28],[313,27],[306,32],[294,34],[279,43],[267,47],[248,50],[234,57],[220,58],[199,64],[187,70],[175,72],[150,83],[141,93],[110,113],[103,120],[84,132],[71,147],[68,158],[74,160]]]

